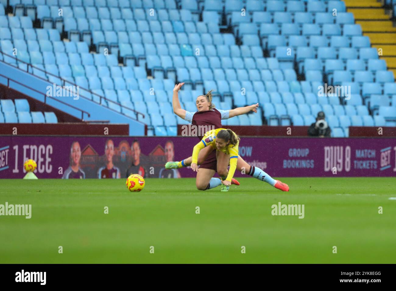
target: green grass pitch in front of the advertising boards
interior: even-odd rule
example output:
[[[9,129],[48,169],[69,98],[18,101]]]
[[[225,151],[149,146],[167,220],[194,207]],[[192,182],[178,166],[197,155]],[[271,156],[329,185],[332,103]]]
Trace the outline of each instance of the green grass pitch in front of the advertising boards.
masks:
[[[31,219],[0,216],[0,263],[396,261],[395,178],[283,178],[290,192],[239,181],[146,179],[131,193],[124,179],[0,180],[0,204],[32,204]],[[304,204],[304,219],[271,215],[278,202]]]

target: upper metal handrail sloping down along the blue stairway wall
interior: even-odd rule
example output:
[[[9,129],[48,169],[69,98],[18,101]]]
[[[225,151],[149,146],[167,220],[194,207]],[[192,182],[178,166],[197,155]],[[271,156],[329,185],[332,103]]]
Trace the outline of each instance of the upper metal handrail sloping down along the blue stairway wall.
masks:
[[[13,57],[12,55],[8,55],[7,53],[4,53],[4,52],[1,51],[1,50],[0,50],[0,53],[1,53],[2,55],[6,55],[6,56],[8,56],[8,57],[10,57],[10,58],[12,58],[12,59],[15,59],[15,60],[18,61],[18,62],[25,63],[25,64],[27,65],[27,70],[26,70],[26,72],[27,72],[28,74],[31,74],[31,75],[35,76],[36,78],[39,78],[39,79],[41,79],[41,80],[43,80],[43,81],[45,81],[45,82],[49,82],[49,81],[46,80],[46,79],[44,79],[44,78],[41,78],[40,76],[36,76],[36,75],[30,73],[30,72],[29,72],[29,66],[30,66],[31,68],[35,68],[35,69],[40,70],[40,71],[42,71],[42,72],[44,72],[44,73],[46,73],[46,74],[48,74],[48,75],[51,75],[51,76],[53,76],[53,77],[55,77],[55,78],[60,79],[61,81],[63,81],[63,86],[65,86],[66,82],[69,83],[69,84],[71,84],[71,85],[73,85],[73,86],[79,86],[79,85],[77,85],[77,84],[74,84],[74,83],[72,83],[72,82],[70,82],[70,81],[68,81],[68,80],[66,80],[66,79],[64,79],[64,78],[62,78],[61,76],[56,76],[56,75],[54,75],[54,74],[51,74],[51,73],[47,72],[46,70],[43,70],[43,69],[38,68],[38,67],[34,67],[34,66],[33,66],[32,64],[30,64],[30,63],[27,63],[27,62],[25,62],[25,61],[22,61],[21,59],[18,59],[18,58],[16,58],[16,57]],[[3,57],[3,61],[2,61],[2,62],[3,62],[3,63],[6,63],[7,65],[13,66],[12,64],[5,62],[5,61],[4,61],[4,57]],[[13,66],[13,67],[15,67],[15,66]],[[17,69],[19,69],[19,70],[25,72],[25,70],[22,70],[22,69],[19,68],[19,67],[15,67],[15,68],[17,68]],[[51,83],[49,83],[49,84],[51,84]],[[122,108],[126,108],[126,109],[128,109],[128,110],[133,111],[133,112],[136,114],[136,120],[137,120],[138,114],[140,114],[141,116],[143,116],[143,118],[145,118],[145,115],[144,115],[143,113],[141,113],[141,112],[139,112],[139,111],[136,111],[135,109],[128,108],[128,107],[126,107],[126,106],[124,106],[124,105],[121,105],[121,104],[118,103],[118,102],[114,102],[114,101],[112,101],[112,100],[110,100],[110,99],[107,99],[106,97],[101,96],[101,95],[99,95],[99,94],[97,94],[97,93],[94,93],[94,92],[92,92],[91,90],[88,90],[88,89],[86,89],[86,88],[84,88],[84,87],[81,87],[81,86],[79,86],[79,87],[80,87],[81,89],[83,89],[84,91],[87,91],[87,92],[91,93],[92,95],[96,95],[96,96],[99,97],[99,103],[97,103],[96,101],[91,100],[91,99],[89,99],[89,98],[87,98],[87,97],[84,97],[83,95],[80,96],[80,97],[82,97],[82,98],[84,98],[84,99],[86,99],[86,100],[89,100],[89,101],[92,101],[92,102],[95,102],[95,103],[101,105],[101,103],[102,103],[102,98],[103,98],[105,101],[108,101],[108,102],[110,101],[111,103],[114,103],[114,104],[116,104],[116,105],[118,105],[118,106],[120,106],[120,107],[122,107]],[[69,91],[69,89],[68,89],[68,91]],[[41,92],[40,92],[40,93],[41,93]],[[109,108],[110,110],[113,110],[114,112],[120,113],[120,114],[122,114],[122,115],[124,115],[124,116],[126,116],[126,117],[128,117],[128,118],[133,119],[131,116],[128,116],[128,115],[126,115],[126,114],[124,114],[124,113],[122,113],[122,112],[118,112],[118,111],[116,111],[116,110],[114,110],[114,109],[112,109],[112,108],[110,108],[110,107],[107,107],[107,108]]]

